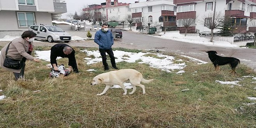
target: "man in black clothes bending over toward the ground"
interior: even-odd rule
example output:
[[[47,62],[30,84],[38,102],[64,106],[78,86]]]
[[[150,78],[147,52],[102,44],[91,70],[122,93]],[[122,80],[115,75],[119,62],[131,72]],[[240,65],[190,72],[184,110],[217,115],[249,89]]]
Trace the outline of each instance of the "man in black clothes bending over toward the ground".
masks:
[[[53,69],[55,71],[58,71],[58,65],[56,62],[56,58],[57,57],[67,57],[68,58],[68,71],[73,71],[75,73],[79,73],[78,69],[77,69],[77,64],[76,64],[76,60],[75,60],[75,50],[64,44],[64,43],[58,43],[56,45],[54,45],[53,47],[51,47],[51,65],[53,66]]]

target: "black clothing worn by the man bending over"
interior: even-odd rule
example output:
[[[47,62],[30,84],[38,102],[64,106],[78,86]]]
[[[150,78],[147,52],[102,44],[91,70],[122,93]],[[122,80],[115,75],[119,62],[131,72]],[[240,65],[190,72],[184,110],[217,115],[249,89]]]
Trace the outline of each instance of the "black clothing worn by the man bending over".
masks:
[[[68,58],[68,65],[72,66],[73,70],[77,70],[77,64],[76,64],[76,60],[75,60],[75,50],[73,49],[73,51],[66,55],[63,52],[64,47],[66,47],[68,45],[64,44],[64,43],[58,43],[56,45],[54,45],[53,47],[51,47],[51,64],[56,64],[56,59],[57,57],[67,57]],[[70,47],[70,46],[69,46]]]

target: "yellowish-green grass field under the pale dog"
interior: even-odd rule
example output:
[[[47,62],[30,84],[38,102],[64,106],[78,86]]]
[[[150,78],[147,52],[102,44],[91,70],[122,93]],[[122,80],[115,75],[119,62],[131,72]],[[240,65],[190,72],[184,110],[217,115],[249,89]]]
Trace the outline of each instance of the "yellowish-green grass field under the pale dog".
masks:
[[[49,50],[49,47],[36,49]],[[68,77],[49,78],[49,62],[26,61],[26,81],[14,81],[14,75],[0,68],[0,95],[8,98],[0,100],[1,128],[252,128],[256,126],[256,107],[245,106],[252,103],[246,97],[255,97],[255,84],[251,78],[256,74],[242,64],[237,74],[229,74],[228,65],[215,72],[210,63],[197,65],[186,62],[189,59],[172,55],[186,62],[182,75],[167,73],[149,67],[147,64],[119,62],[119,69],[136,69],[145,79],[154,79],[144,84],[146,94],[137,88],[132,95],[122,95],[121,88],[109,89],[102,96],[105,85],[91,86],[93,77],[104,73],[102,62],[86,65],[84,49],[75,48],[76,60],[81,73],[71,73]],[[117,48],[119,49],[119,48]],[[120,50],[120,49],[119,49]],[[123,49],[142,52],[140,50]],[[68,59],[58,63],[68,64]],[[110,60],[109,58],[107,60]],[[96,71],[89,73],[88,69]],[[110,69],[113,71],[114,69]],[[195,72],[196,71],[196,72]],[[230,88],[216,80],[236,81]],[[189,88],[189,91],[181,90]],[[33,92],[40,90],[39,92]],[[131,92],[132,89],[128,89]]]

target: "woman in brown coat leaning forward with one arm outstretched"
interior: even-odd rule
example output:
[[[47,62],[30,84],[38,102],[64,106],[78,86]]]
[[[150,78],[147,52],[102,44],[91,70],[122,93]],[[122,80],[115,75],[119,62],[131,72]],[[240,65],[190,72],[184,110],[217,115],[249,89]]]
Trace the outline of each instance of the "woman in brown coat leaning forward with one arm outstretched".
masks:
[[[16,38],[12,40],[11,43],[8,43],[5,45],[4,48],[1,50],[1,55],[0,55],[0,66],[3,69],[7,69],[8,71],[11,71],[14,73],[15,80],[18,80],[19,78],[23,79],[24,78],[24,69],[25,69],[25,61],[26,59],[30,61],[35,61],[35,62],[41,62],[39,59],[34,58],[31,54],[33,50],[33,41],[35,40],[35,34],[33,31],[25,31],[21,37]],[[10,45],[9,45],[10,44]],[[9,45],[7,55],[5,55],[6,49]],[[5,57],[9,57],[14,60],[23,60],[23,66],[21,69],[11,69],[4,67],[4,60]]]

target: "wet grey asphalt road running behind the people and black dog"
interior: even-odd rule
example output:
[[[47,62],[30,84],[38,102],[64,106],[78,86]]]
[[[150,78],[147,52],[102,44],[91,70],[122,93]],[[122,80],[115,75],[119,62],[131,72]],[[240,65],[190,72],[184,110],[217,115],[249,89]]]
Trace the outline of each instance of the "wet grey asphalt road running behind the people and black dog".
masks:
[[[132,31],[122,31],[123,38],[116,38],[113,47],[123,47],[130,49],[151,49],[151,50],[165,50],[166,52],[173,52],[180,55],[187,55],[202,61],[210,62],[208,54],[205,51],[214,50],[218,55],[226,57],[236,57],[240,62],[254,69],[256,67],[256,49],[250,48],[223,48],[210,47],[205,45],[198,45],[193,43],[185,43],[174,40],[166,40],[149,36],[146,34],[135,33]],[[4,46],[7,42],[0,42],[0,46]],[[51,47],[56,43],[48,42],[34,42],[35,46]],[[98,47],[93,40],[86,41],[72,41],[67,43],[72,47]]]

